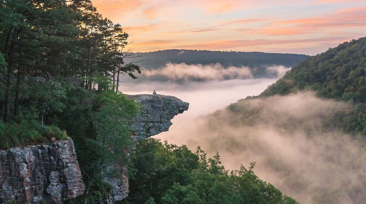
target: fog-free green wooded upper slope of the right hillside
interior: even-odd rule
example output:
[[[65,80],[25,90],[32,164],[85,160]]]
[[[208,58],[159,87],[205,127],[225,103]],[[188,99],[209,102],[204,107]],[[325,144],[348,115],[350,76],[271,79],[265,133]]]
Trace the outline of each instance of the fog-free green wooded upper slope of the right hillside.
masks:
[[[366,134],[366,37],[344,42],[292,68],[260,96],[310,90],[317,96],[348,101],[353,110],[341,124],[345,132]]]

